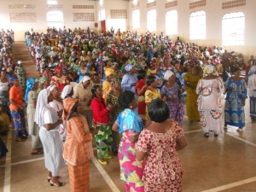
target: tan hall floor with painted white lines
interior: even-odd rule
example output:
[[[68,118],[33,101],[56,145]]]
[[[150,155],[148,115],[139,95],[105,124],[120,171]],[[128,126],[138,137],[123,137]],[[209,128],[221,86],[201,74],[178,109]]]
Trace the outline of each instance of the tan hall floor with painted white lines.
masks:
[[[224,131],[219,137],[209,138],[202,136],[199,123],[189,124],[188,120],[184,119],[183,125],[189,145],[178,152],[178,155],[185,169],[185,192],[256,191],[256,125],[248,118],[248,103],[246,113],[247,124],[244,131]],[[14,138],[15,131],[10,133]],[[3,137],[3,140],[8,139]],[[7,141],[11,146],[7,164],[4,165],[4,160],[0,161],[0,192],[69,191],[67,167],[61,170],[61,180],[67,183],[66,186],[50,187],[46,181],[44,155],[30,155],[30,140],[25,143],[16,143],[14,139],[11,141]],[[9,168],[10,177],[5,175]],[[119,180],[117,157],[110,160],[108,166],[101,166],[96,160],[91,161],[90,191],[125,191],[122,181]]]

